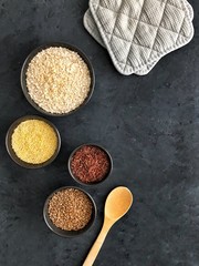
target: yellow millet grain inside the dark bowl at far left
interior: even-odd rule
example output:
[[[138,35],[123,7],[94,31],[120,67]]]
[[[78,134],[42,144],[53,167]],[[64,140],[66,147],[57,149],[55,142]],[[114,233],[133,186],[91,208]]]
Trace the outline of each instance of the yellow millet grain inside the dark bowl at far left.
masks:
[[[57,136],[48,123],[40,120],[21,122],[13,131],[11,146],[23,162],[40,164],[53,156]]]

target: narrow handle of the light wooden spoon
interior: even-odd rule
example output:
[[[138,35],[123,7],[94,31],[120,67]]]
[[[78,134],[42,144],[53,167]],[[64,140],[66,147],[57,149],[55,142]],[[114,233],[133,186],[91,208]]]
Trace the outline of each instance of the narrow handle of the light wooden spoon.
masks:
[[[84,264],[83,266],[92,266],[93,263],[95,262],[96,259],[96,256],[98,255],[100,250],[101,250],[101,247],[106,238],[106,235],[109,231],[109,228],[112,227],[112,224],[111,223],[107,223],[106,221],[104,222],[104,225],[101,229],[101,233],[98,234],[95,243],[93,244],[86,259],[84,260]]]

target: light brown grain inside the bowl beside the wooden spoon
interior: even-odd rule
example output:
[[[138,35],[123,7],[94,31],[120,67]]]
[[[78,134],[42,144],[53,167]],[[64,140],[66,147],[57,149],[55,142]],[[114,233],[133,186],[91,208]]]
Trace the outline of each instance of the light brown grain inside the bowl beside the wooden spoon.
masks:
[[[64,231],[84,228],[92,217],[92,202],[82,191],[66,188],[56,192],[49,202],[52,223]]]

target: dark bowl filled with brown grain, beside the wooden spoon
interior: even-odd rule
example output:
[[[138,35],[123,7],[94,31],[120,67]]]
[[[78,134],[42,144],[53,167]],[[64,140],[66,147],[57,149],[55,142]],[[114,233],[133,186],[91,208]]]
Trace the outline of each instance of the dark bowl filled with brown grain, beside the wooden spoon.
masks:
[[[95,202],[87,192],[75,186],[63,186],[46,198],[43,217],[52,232],[73,237],[91,228],[96,212]]]

